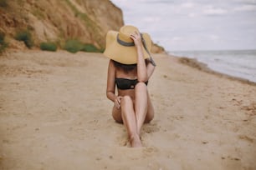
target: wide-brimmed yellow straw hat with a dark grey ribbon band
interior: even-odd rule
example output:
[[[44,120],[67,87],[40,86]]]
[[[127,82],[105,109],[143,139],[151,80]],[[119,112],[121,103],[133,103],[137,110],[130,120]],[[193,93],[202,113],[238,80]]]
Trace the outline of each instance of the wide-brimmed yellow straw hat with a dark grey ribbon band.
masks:
[[[120,28],[119,32],[109,31],[106,35],[106,46],[104,55],[116,62],[123,64],[135,64],[137,62],[137,52],[133,40],[130,35],[134,32],[139,32],[138,28],[126,25]],[[146,42],[146,48],[151,51],[151,37],[147,33],[141,33],[141,37]],[[144,58],[150,57],[143,47]]]

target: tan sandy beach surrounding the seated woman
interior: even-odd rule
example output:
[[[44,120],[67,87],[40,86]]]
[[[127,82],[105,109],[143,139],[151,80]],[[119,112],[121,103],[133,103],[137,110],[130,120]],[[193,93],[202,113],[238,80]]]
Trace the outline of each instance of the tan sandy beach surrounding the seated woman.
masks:
[[[101,53],[0,56],[0,169],[256,169],[256,86],[153,56],[143,148],[111,117]]]

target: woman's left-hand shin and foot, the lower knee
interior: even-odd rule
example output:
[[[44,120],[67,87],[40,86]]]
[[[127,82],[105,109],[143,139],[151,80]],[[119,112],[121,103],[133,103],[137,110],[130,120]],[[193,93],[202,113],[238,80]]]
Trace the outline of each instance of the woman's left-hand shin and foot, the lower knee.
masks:
[[[120,101],[120,110],[122,122],[125,124],[131,147],[141,147],[141,139],[137,133],[136,116],[133,108],[133,101],[131,97],[122,97]]]

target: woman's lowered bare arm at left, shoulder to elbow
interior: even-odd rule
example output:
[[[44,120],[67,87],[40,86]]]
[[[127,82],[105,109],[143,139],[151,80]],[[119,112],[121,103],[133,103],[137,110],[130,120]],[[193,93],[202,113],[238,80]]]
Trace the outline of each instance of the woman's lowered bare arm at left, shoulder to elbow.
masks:
[[[115,66],[112,60],[109,62],[108,67],[108,77],[107,77],[107,87],[106,87],[106,96],[112,101],[115,102]]]

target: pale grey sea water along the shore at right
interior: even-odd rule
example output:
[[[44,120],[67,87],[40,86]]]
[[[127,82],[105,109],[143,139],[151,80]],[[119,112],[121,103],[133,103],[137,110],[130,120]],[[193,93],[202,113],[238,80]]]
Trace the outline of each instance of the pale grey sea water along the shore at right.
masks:
[[[256,50],[174,51],[179,57],[196,58],[216,72],[256,82]]]

